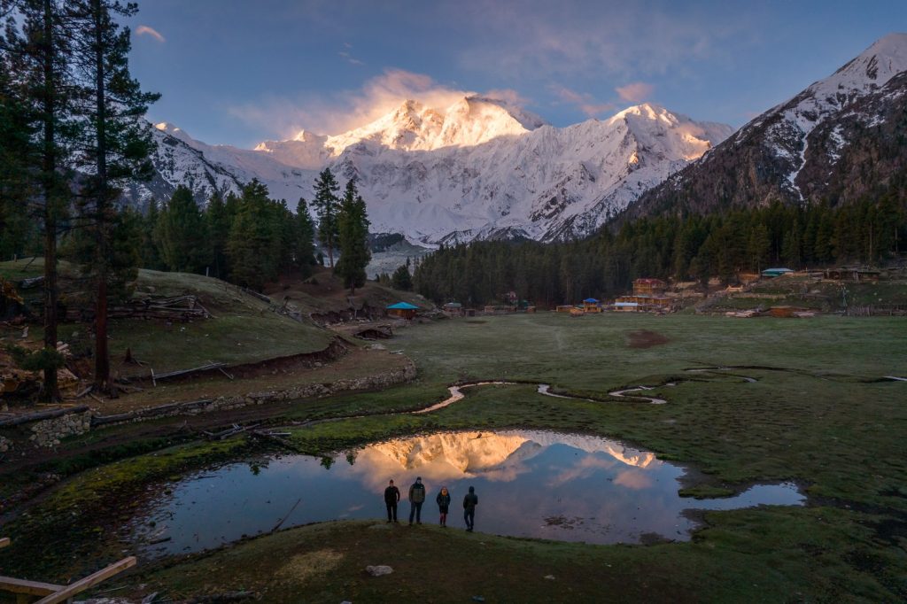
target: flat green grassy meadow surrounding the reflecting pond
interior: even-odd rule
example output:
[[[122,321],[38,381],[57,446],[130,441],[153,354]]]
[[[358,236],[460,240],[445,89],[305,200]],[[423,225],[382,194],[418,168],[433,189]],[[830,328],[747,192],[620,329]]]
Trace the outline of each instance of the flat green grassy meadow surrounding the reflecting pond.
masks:
[[[414,360],[413,383],[279,405],[256,421],[286,426],[293,451],[328,456],[439,430],[598,434],[688,466],[686,495],[793,481],[807,505],[705,512],[692,541],[632,546],[496,537],[481,524],[483,532],[467,534],[427,525],[388,529],[377,518],[328,522],[141,560],[105,587],[124,586],[115,593],[133,598],[158,591],[174,601],[239,590],[274,602],[907,598],[907,463],[898,453],[907,434],[907,382],[886,378],[907,377],[902,318],[541,313],[437,321],[385,344]],[[443,400],[448,385],[475,380],[547,383],[591,400],[544,396],[531,384],[488,385],[432,413],[401,413]],[[667,404],[608,395],[637,385]],[[243,436],[198,441],[182,418],[161,420],[155,434],[135,432],[139,425],[63,443],[59,465],[45,463],[44,472],[72,478],[5,520],[14,546],[0,550],[4,574],[86,574],[122,555],[122,523],[147,497],[187,472],[280,450]],[[88,439],[118,432],[135,435],[128,447],[67,457]],[[395,572],[367,575],[366,565],[375,564]]]

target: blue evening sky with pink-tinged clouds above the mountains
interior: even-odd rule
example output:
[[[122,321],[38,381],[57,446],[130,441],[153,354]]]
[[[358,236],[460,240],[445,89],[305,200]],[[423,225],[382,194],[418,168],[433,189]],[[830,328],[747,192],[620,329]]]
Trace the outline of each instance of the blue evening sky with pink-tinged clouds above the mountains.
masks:
[[[338,134],[467,93],[555,126],[655,102],[739,127],[885,34],[904,0],[140,0],[148,113],[211,144]]]

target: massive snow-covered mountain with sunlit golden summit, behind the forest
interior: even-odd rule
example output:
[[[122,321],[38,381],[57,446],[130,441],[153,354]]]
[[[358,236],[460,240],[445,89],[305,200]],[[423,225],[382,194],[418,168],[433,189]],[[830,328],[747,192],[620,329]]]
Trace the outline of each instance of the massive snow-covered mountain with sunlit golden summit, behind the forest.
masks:
[[[598,228],[730,133],[649,103],[555,128],[479,96],[444,109],[405,101],[350,132],[299,132],[254,150],[207,145],[158,124],[160,179],[141,193],[165,195],[167,184],[189,183],[205,200],[258,178],[292,207],[329,166],[341,182],[358,179],[376,232],[428,245],[568,239]]]

